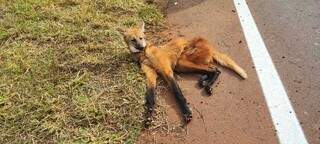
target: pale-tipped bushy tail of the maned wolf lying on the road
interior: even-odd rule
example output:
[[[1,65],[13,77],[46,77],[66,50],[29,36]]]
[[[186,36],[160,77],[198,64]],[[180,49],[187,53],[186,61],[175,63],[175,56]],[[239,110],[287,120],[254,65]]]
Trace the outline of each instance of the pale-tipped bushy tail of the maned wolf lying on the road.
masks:
[[[213,59],[216,60],[220,65],[234,70],[243,79],[248,78],[247,73],[236,62],[234,62],[231,58],[229,58],[227,55],[215,51],[214,55],[213,55]]]

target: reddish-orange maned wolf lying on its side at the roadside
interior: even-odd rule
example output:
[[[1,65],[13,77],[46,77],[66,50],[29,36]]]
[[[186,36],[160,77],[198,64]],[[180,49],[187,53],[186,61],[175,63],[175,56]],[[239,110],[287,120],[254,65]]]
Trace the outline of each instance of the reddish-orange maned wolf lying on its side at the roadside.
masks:
[[[145,126],[151,122],[155,105],[155,88],[158,74],[162,75],[173,92],[186,123],[192,119],[192,113],[187,105],[175,78],[174,71],[180,73],[200,73],[199,86],[211,95],[212,85],[220,71],[214,66],[214,61],[237,72],[243,79],[246,72],[227,55],[215,50],[205,39],[193,38],[185,40],[176,38],[162,46],[147,44],[144,23],[121,33],[134,59],[139,62],[147,78]]]

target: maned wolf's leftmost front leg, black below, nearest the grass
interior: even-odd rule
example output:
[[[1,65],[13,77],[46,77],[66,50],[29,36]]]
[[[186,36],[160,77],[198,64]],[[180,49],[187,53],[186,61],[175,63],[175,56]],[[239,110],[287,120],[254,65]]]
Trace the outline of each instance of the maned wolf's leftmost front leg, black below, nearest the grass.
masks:
[[[152,121],[152,114],[153,114],[154,105],[155,105],[155,94],[156,94],[155,89],[156,89],[156,83],[157,83],[157,73],[153,68],[145,64],[142,64],[141,68],[147,78],[144,126],[149,127]]]

